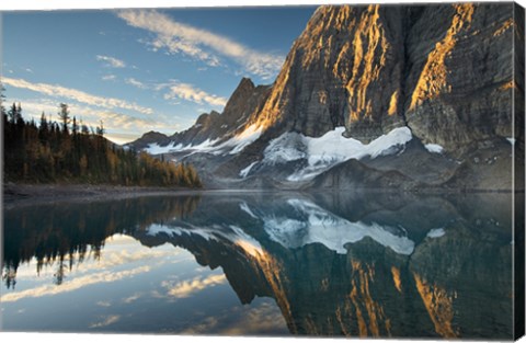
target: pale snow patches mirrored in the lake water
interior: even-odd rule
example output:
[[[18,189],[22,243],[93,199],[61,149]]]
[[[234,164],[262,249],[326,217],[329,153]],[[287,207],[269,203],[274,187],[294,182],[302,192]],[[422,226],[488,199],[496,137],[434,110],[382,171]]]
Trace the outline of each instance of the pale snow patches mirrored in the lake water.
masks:
[[[410,255],[414,251],[414,242],[407,237],[407,230],[402,227],[382,226],[374,221],[352,222],[305,199],[288,199],[284,205],[288,208],[283,214],[256,211],[245,202],[241,202],[239,207],[263,225],[271,240],[287,249],[320,243],[339,254],[346,254],[347,243],[356,243],[368,237],[398,254]],[[152,225],[147,235],[199,236],[208,241],[229,241],[252,256],[265,253],[261,243],[237,225]],[[443,229],[434,229],[427,237],[438,238],[444,235]]]

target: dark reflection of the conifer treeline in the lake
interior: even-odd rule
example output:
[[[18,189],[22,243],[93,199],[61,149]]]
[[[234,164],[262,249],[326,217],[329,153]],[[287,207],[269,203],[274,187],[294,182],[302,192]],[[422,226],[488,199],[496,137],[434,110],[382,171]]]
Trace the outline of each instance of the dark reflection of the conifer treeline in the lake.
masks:
[[[54,283],[60,284],[65,273],[84,259],[99,259],[108,237],[126,233],[140,238],[153,224],[192,216],[199,202],[199,196],[137,197],[5,211],[2,281],[8,289],[14,288],[19,266],[35,259],[36,273],[55,268]]]

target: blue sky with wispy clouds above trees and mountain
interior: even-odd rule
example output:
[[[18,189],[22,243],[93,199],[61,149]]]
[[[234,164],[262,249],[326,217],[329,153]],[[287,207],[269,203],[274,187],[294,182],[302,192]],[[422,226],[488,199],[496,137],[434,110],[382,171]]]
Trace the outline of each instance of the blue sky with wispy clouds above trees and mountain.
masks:
[[[60,102],[116,142],[221,111],[242,77],[272,83],[316,7],[2,14],[7,105],[57,119]]]

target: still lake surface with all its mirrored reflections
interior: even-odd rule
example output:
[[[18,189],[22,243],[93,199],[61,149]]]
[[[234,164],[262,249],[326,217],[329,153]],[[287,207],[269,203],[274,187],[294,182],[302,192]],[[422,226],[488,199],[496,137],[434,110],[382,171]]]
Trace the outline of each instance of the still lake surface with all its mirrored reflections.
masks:
[[[4,331],[513,336],[510,195],[216,193],[4,210]]]

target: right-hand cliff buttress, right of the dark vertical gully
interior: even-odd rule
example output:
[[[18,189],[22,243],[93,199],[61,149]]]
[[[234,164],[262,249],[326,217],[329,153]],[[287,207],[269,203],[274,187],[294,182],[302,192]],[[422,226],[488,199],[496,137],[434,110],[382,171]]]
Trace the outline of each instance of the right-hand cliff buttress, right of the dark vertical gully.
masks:
[[[513,5],[426,7],[407,37],[405,117],[453,151],[513,137]]]

